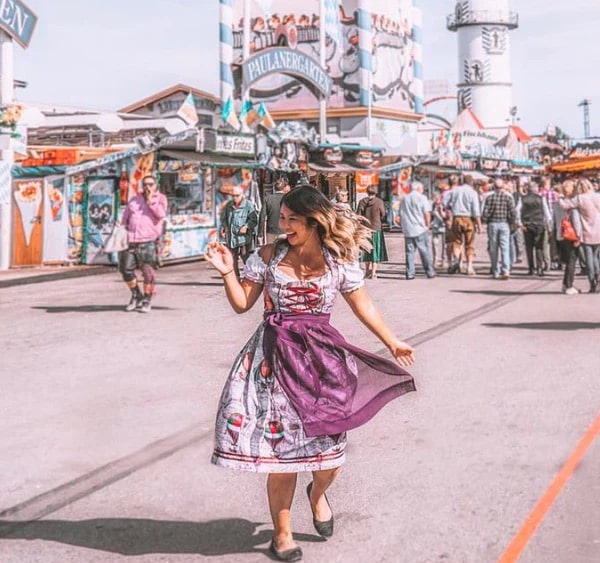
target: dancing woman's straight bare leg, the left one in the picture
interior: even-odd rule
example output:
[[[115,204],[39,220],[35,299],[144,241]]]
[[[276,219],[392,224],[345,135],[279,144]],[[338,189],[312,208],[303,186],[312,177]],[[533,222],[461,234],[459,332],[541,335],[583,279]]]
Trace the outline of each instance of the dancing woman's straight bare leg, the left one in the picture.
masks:
[[[278,551],[296,547],[292,537],[292,501],[296,490],[296,473],[270,473],[267,479],[269,508],[273,520],[273,540]]]

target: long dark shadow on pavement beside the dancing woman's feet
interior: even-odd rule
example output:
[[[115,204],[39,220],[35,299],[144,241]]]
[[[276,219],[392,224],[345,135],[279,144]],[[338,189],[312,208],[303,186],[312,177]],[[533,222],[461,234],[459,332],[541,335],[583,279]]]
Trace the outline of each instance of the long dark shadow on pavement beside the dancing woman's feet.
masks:
[[[137,518],[93,520],[0,520],[4,540],[47,540],[121,555],[193,553],[206,556],[264,553],[257,548],[271,540],[273,530],[241,518],[209,522],[176,522]],[[294,534],[300,541],[318,542],[316,535]]]

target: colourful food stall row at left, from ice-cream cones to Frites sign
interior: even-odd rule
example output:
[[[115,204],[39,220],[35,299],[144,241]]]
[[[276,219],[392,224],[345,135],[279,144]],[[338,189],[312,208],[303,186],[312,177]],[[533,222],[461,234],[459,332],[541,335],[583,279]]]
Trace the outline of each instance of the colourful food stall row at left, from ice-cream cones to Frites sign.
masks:
[[[253,135],[209,129],[104,154],[54,150],[51,158],[37,151],[42,158],[13,168],[12,265],[114,263],[116,257],[102,250],[104,242],[150,174],[168,200],[162,258],[201,256],[216,236],[219,208],[231,187],[242,185],[257,199],[255,147]]]

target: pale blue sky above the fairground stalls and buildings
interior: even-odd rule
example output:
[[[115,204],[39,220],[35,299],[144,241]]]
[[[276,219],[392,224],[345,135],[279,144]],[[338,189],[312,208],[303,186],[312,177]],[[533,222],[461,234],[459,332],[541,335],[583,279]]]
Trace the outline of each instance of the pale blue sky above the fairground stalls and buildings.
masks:
[[[118,109],[183,82],[218,94],[217,0],[25,0],[38,15],[29,49],[15,45],[24,101]],[[456,83],[454,0],[422,0],[427,80]],[[592,101],[600,135],[599,0],[512,0],[513,98],[530,133],[548,122],[583,136],[577,104]],[[432,111],[433,111],[433,106]],[[445,109],[435,108],[436,111]],[[595,119],[595,116],[598,116]]]

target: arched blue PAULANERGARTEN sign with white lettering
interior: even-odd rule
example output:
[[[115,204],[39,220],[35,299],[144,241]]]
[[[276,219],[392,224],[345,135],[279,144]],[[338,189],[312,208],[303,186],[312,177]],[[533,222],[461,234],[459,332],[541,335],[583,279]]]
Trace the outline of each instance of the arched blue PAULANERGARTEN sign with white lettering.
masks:
[[[242,64],[246,88],[257,80],[275,73],[294,76],[311,90],[318,92],[321,97],[328,97],[331,93],[331,78],[327,76],[326,70],[312,57],[294,49],[265,49]]]

